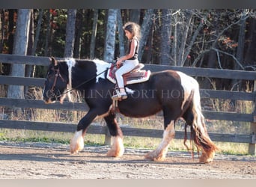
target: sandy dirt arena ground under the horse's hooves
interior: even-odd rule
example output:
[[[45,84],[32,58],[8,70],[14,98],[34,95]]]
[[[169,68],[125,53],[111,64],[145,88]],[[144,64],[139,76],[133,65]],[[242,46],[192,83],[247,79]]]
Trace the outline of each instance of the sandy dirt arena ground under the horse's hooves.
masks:
[[[126,149],[106,157],[109,147],[86,146],[70,155],[65,144],[0,141],[1,179],[256,179],[256,156],[216,154],[199,164],[187,152],[168,152],[165,162],[144,160],[149,150]]]

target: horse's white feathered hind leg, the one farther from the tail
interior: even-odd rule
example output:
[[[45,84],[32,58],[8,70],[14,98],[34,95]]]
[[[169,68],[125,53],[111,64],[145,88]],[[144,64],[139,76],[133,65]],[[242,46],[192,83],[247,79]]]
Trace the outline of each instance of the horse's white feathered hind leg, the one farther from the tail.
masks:
[[[163,138],[159,146],[156,150],[153,150],[144,157],[145,159],[149,159],[156,162],[165,161],[166,153],[168,152],[168,145],[171,140],[174,138],[175,130],[174,130],[174,120],[171,120],[171,123],[165,128],[163,133]]]

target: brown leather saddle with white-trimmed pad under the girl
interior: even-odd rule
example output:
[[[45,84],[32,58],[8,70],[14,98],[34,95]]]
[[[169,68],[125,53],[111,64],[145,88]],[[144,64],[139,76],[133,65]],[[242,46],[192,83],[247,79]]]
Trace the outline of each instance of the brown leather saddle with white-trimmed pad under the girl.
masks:
[[[141,70],[144,67],[144,64],[138,64],[135,66],[132,71],[125,73],[123,75],[124,78],[124,85],[132,85],[135,83],[140,82],[146,82],[150,77],[150,70]],[[118,70],[118,68],[112,64],[112,66],[109,68],[107,73],[107,79],[109,79],[110,82],[113,82],[116,84],[115,79],[115,72]]]

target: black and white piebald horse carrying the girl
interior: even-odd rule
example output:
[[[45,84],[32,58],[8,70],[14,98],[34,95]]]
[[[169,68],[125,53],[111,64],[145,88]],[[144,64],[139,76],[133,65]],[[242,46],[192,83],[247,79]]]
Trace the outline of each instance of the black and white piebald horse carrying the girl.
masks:
[[[78,153],[84,148],[84,136],[88,126],[97,117],[104,117],[113,140],[107,156],[118,157],[124,154],[123,133],[112,109],[111,96],[115,84],[107,79],[109,67],[109,63],[98,59],[50,58],[43,91],[44,101],[63,102],[68,93],[67,88],[76,89],[82,91],[90,108],[79,120],[76,132],[70,140],[71,153]],[[213,161],[218,148],[207,133],[201,113],[199,86],[195,79],[179,71],[164,70],[151,73],[147,82],[127,85],[126,91],[128,98],[118,101],[118,112],[121,114],[127,117],[147,117],[159,111],[163,112],[162,141],[156,150],[147,153],[145,159],[165,160],[168,145],[175,135],[175,122],[182,117],[186,126],[191,126],[192,141],[201,150],[199,162]]]

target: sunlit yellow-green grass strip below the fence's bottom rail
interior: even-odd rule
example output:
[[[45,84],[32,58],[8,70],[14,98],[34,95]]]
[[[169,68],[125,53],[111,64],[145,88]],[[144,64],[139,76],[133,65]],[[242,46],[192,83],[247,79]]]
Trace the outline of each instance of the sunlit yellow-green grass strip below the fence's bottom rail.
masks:
[[[0,141],[15,141],[15,142],[44,142],[44,143],[59,143],[69,144],[73,133],[68,132],[45,132],[33,130],[18,130],[18,129],[0,129]],[[105,135],[85,135],[86,145],[104,145]],[[155,149],[160,143],[161,138],[141,138],[124,136],[124,146],[129,148]],[[223,154],[247,155],[248,144],[215,142]],[[189,144],[189,141],[188,143]],[[169,150],[172,151],[187,151],[183,145],[183,140],[174,139],[171,141]]]

